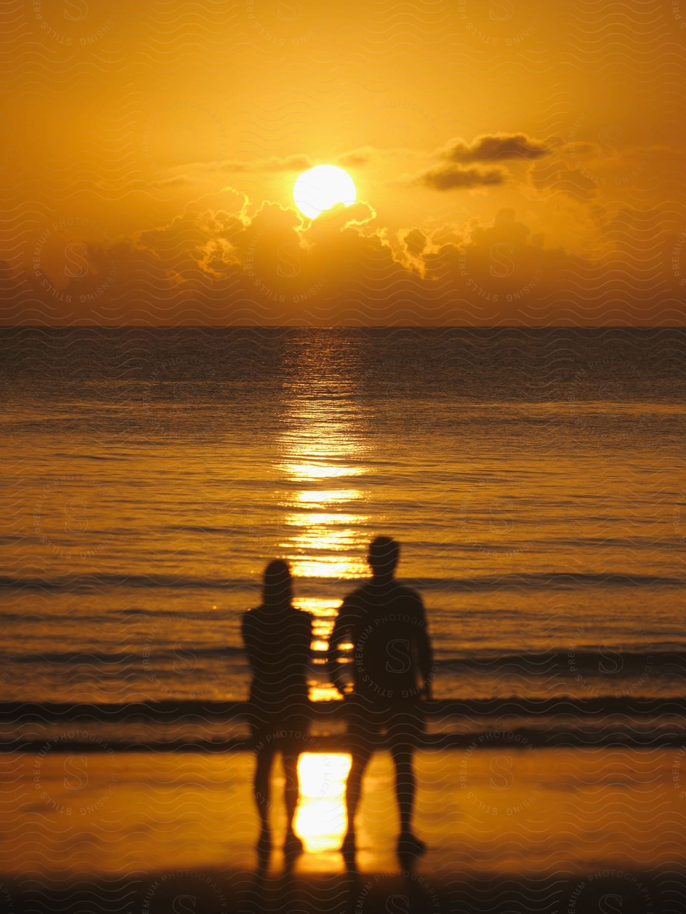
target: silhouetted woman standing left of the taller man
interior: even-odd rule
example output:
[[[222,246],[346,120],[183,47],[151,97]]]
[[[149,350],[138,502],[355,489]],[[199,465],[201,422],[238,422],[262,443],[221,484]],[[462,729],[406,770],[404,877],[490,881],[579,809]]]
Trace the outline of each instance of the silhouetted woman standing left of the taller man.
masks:
[[[297,760],[309,726],[307,664],[312,626],[306,612],[292,604],[291,572],[282,559],[264,570],[262,605],[243,614],[242,635],[252,667],[250,721],[256,768],[254,795],[262,832],[258,850],[271,846],[269,778],[274,755],[284,760],[284,799],[288,825],[285,849],[302,850],[294,834],[298,800]]]

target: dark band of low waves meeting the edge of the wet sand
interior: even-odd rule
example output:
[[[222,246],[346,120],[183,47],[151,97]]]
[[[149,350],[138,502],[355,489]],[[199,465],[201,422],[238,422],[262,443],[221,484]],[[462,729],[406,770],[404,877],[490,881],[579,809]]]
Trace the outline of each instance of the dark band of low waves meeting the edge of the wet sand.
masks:
[[[424,706],[423,749],[683,746],[686,697],[499,698]],[[249,749],[245,702],[118,705],[0,704],[0,752],[226,751]],[[348,750],[344,702],[312,706],[310,749]],[[240,729],[237,729],[239,727]],[[41,732],[41,728],[45,728]]]

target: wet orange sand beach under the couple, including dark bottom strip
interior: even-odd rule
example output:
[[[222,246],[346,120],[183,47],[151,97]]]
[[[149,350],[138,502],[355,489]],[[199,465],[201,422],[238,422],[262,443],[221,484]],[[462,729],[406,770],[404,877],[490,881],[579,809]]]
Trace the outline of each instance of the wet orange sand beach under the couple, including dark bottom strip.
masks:
[[[488,745],[488,744],[487,744]],[[686,902],[683,749],[483,748],[417,754],[412,870],[394,854],[391,760],[370,765],[356,871],[338,853],[347,758],[303,762],[284,866],[260,880],[246,752],[0,755],[3,909],[53,911],[679,911]]]

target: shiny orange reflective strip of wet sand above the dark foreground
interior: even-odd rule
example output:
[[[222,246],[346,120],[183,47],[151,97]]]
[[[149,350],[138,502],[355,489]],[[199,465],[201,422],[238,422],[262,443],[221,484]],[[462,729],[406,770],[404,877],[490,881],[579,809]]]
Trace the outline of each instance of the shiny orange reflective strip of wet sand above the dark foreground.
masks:
[[[518,814],[509,814],[504,802],[509,793],[500,789],[500,774],[494,774],[503,771],[501,754],[499,749],[417,754],[423,784],[418,813],[432,848],[418,872],[427,880],[449,882],[459,872],[484,879],[513,874],[560,879],[564,871],[576,882],[606,867],[633,872],[681,866],[683,840],[675,824],[686,814],[686,791],[679,789],[673,773],[680,770],[680,748],[541,749],[538,764],[525,749],[513,752],[509,772],[523,807]],[[318,842],[328,846],[343,822],[335,798],[345,779],[346,756],[331,755],[331,764],[319,767],[318,773],[309,762],[304,772],[303,785],[314,801],[310,808],[329,804],[321,828],[309,819],[315,813],[305,817],[301,834],[308,848]],[[83,768],[89,777],[75,790],[73,778],[65,777],[69,754],[53,750],[40,761],[49,800],[41,800],[36,790],[38,759],[17,753],[4,760],[16,792],[16,805],[8,806],[3,817],[0,870],[5,874],[34,878],[52,872],[67,879],[128,874],[136,867],[160,873],[207,866],[218,872],[236,870],[244,877],[254,869],[259,825],[248,753],[87,752]],[[273,777],[273,827],[283,835],[284,807],[277,786],[282,776],[274,771]],[[310,777],[317,781],[314,790]],[[465,777],[483,802],[467,798],[471,786],[464,787]],[[324,784],[328,793],[319,797]],[[526,804],[520,802],[524,799]],[[68,808],[74,814],[67,815]],[[81,809],[92,812],[81,814]],[[397,813],[387,753],[370,763],[361,814],[360,872],[398,873]],[[10,824],[19,826],[15,835]],[[83,840],[84,829],[88,840]],[[68,856],[65,846],[70,847]],[[276,873],[282,865],[276,845],[270,870]],[[343,871],[344,861],[338,852],[305,853],[297,868],[336,874]],[[654,909],[670,908],[660,908],[655,898]]]

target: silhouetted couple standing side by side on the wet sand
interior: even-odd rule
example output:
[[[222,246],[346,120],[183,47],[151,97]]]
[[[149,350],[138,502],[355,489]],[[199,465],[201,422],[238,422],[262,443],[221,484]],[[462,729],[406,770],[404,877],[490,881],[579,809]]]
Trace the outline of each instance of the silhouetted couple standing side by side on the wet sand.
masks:
[[[370,544],[372,577],[343,600],[328,644],[328,672],[342,695],[347,671],[351,669],[353,675],[352,692],[345,695],[352,766],[346,787],[344,854],[355,851],[362,776],[384,730],[395,764],[401,820],[398,851],[419,854],[425,849],[412,830],[413,748],[423,732],[422,699],[431,696],[432,650],[421,597],[394,578],[399,556],[400,546],[391,537],[377,537]],[[270,846],[269,777],[277,752],[284,759],[288,817],[284,850],[302,850],[293,824],[297,757],[309,726],[311,617],[296,610],[292,599],[290,570],[284,561],[273,561],[264,572],[262,605],[246,612],[242,621],[253,674],[250,717],[256,755],[254,795],[262,823],[258,849],[262,852]]]

